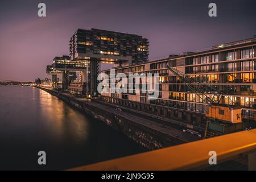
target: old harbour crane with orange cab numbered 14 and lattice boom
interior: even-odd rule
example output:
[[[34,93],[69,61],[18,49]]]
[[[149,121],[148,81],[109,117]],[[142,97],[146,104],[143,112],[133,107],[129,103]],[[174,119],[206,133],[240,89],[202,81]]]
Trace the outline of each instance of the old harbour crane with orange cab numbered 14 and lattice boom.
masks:
[[[195,78],[186,75],[177,68],[169,67],[168,64],[166,65],[166,68],[185,84],[186,89],[189,88],[203,101],[204,104],[207,104],[205,107],[205,117],[207,117],[205,135],[207,134],[209,125],[214,126],[212,127],[213,129],[215,128],[217,131],[225,133],[225,125],[230,123],[242,123],[241,106],[237,106],[236,102],[231,100],[229,97],[226,97],[224,93],[220,92],[220,90],[217,90],[211,86],[205,86],[204,84],[197,84],[194,80]],[[207,88],[214,91],[211,98],[207,95]],[[217,99],[215,99],[216,97]],[[232,105],[221,104],[221,98],[228,98]]]

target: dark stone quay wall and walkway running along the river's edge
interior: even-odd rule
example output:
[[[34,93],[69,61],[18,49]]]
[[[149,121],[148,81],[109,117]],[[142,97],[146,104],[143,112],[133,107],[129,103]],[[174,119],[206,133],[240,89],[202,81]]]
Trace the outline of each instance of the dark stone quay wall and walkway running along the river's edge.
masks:
[[[48,88],[38,88],[67,102],[82,113],[100,119],[101,122],[120,131],[150,150],[200,139],[194,135],[184,133],[181,130],[163,126],[154,120],[116,110],[114,107],[101,104],[100,102],[71,96],[68,93],[57,92],[56,90]]]

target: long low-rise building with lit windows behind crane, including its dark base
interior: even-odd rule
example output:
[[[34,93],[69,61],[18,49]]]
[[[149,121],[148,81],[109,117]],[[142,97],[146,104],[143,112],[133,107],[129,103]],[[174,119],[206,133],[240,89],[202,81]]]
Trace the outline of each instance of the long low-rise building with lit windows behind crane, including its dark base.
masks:
[[[166,118],[166,121],[174,119],[183,127],[203,131],[208,127],[209,115],[216,115],[209,114],[207,109],[208,103],[204,100],[209,97],[216,104],[216,108],[241,108],[241,122],[232,123],[220,119],[220,122],[216,121],[217,124],[212,121],[211,129],[216,129],[219,134],[242,130],[255,125],[256,120],[255,51],[256,38],[250,38],[213,46],[207,51],[184,52],[183,55],[170,55],[167,59],[118,67],[115,68],[115,75],[158,73],[158,98],[150,100],[147,93],[142,93],[140,89],[136,93],[102,93],[101,99]],[[169,67],[176,70],[177,75]],[[110,70],[102,73],[110,75]],[[188,82],[183,82],[183,78],[189,79]],[[217,111],[222,118],[227,113],[229,112],[225,109]],[[222,125],[227,127],[219,127]]]

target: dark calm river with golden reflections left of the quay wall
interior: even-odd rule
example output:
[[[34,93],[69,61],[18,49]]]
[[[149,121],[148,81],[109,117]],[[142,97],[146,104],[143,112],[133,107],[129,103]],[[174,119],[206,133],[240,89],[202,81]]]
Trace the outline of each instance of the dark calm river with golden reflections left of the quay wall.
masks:
[[[38,152],[46,152],[46,165]],[[30,86],[0,85],[0,169],[68,169],[146,151]]]

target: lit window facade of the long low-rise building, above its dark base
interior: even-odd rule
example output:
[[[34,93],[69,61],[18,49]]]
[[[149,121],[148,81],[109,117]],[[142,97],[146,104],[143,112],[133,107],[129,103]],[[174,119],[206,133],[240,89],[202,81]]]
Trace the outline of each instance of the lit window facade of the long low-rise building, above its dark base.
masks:
[[[213,101],[220,104],[240,105],[243,115],[256,114],[256,46],[241,47],[238,45],[228,51],[208,51],[207,53],[193,53],[193,55],[178,56],[166,60],[153,61],[137,67],[118,69],[123,73],[158,73],[159,95],[151,104],[174,107],[177,109],[205,113],[206,98],[193,93],[179,77],[172,75],[166,68],[179,69],[181,76],[188,77],[192,85],[199,85],[204,93]],[[220,93],[225,94],[222,97]],[[126,100],[129,94],[125,94]],[[148,102],[147,95],[137,95],[141,102]],[[244,111],[246,110],[246,111]],[[256,120],[256,118],[255,118]]]

